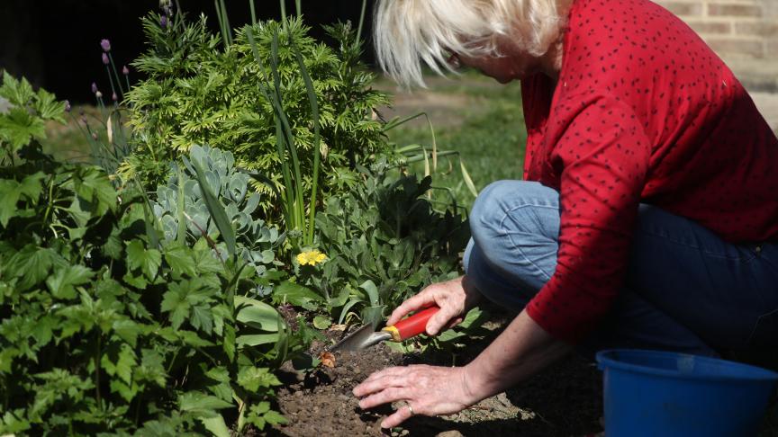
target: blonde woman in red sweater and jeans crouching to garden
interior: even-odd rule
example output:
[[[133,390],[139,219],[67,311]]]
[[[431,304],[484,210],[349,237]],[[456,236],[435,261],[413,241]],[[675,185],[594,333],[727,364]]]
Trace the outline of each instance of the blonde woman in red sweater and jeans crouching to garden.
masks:
[[[382,426],[446,415],[572,350],[716,356],[778,345],[778,139],[731,71],[647,0],[379,0],[377,57],[403,85],[421,61],[520,80],[523,181],[473,207],[466,276],[428,334],[482,297],[519,312],[464,367],[376,372],[360,406],[404,401]],[[449,62],[447,62],[447,59]]]

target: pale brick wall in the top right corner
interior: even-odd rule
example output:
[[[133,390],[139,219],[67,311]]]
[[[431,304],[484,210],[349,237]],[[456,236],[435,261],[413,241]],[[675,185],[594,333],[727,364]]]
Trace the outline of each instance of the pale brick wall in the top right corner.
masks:
[[[778,59],[778,0],[655,0],[687,22],[719,56]]]

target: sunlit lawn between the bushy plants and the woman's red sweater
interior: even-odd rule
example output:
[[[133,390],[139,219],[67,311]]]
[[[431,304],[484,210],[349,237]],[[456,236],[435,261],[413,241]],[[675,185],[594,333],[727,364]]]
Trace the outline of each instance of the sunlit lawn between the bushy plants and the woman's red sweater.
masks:
[[[378,85],[392,88],[385,80]],[[418,98],[419,95],[423,98]],[[420,101],[422,103],[417,103]],[[425,107],[424,102],[429,105]],[[448,102],[457,104],[447,106],[445,103]],[[430,80],[429,90],[395,94],[394,105],[396,115],[400,116],[428,112],[439,150],[454,150],[460,154],[477,190],[493,181],[521,179],[527,133],[518,83],[499,85],[491,79],[468,73],[453,80]],[[390,130],[388,135],[398,147],[420,144],[432,149],[432,136],[426,122],[408,123]],[[412,165],[410,171],[423,174],[423,162]],[[440,160],[432,183],[450,189],[457,203],[468,209],[475,201],[466,188],[456,159]]]

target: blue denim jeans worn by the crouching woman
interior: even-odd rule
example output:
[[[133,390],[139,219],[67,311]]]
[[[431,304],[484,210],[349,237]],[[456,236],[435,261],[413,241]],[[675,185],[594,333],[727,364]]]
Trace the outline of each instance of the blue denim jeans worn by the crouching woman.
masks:
[[[470,227],[468,281],[520,311],[556,270],[559,193],[539,183],[492,183],[475,200]],[[641,204],[623,290],[579,346],[708,356],[778,346],[778,245],[730,244]]]

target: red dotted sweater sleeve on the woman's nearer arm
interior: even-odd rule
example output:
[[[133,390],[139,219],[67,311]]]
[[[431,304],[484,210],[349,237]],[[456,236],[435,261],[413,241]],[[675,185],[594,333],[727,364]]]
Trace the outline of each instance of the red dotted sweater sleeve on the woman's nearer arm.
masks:
[[[622,286],[651,147],[633,111],[608,96],[556,103],[546,140],[559,176],[557,264],[527,311],[549,334],[577,343]]]

